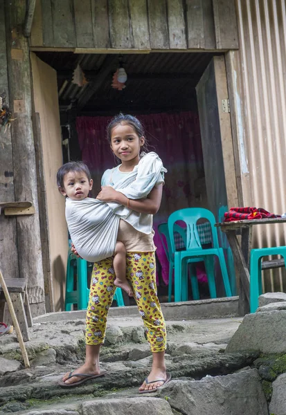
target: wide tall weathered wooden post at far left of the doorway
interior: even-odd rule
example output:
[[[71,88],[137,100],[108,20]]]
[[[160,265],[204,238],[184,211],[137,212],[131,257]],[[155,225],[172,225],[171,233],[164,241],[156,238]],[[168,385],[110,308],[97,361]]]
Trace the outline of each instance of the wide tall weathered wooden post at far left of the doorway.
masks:
[[[42,247],[37,200],[37,172],[32,124],[32,83],[28,39],[23,24],[26,1],[5,1],[6,41],[15,199],[31,201],[36,214],[18,216],[17,246],[19,277],[28,280],[28,297],[33,315],[45,313]]]

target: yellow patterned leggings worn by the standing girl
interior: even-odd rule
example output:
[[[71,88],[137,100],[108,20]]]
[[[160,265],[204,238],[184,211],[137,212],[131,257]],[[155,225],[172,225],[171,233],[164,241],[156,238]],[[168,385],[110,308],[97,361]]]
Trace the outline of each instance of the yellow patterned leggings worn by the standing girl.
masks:
[[[86,343],[102,344],[105,339],[107,313],[114,297],[113,258],[93,265],[89,305],[87,307]],[[157,297],[154,252],[127,252],[127,280],[132,286],[139,314],[152,352],[166,349],[166,324]]]

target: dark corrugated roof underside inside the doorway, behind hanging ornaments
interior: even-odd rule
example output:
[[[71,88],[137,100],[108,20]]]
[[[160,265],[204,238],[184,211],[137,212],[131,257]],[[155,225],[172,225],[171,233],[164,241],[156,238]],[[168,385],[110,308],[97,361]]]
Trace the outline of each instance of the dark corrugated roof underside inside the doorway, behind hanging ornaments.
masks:
[[[58,72],[62,108],[78,102],[82,111],[103,112],[112,108],[157,111],[196,107],[194,88],[213,56],[211,53],[75,55],[49,52],[37,55]],[[120,59],[128,76],[123,91],[111,87]],[[90,77],[89,83],[82,87],[71,82],[77,64]],[[102,71],[105,71],[103,76]]]

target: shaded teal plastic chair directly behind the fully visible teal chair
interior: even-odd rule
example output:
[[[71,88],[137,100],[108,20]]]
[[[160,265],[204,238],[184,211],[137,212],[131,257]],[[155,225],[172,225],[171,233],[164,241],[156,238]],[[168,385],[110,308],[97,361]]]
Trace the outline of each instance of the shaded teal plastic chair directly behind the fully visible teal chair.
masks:
[[[170,235],[169,235],[169,230],[168,230],[168,223],[161,223],[158,226],[158,231],[159,231],[159,237],[161,239],[163,248],[166,252],[166,257],[169,261],[169,284],[168,284],[168,301],[170,302],[172,299],[172,275],[173,275],[173,271],[174,271],[174,267],[175,267],[175,263],[174,263],[174,257],[175,257],[175,252],[172,251],[172,246],[171,246],[171,242],[170,242]],[[184,242],[184,246],[186,248],[186,228],[181,228],[181,226],[179,226],[177,223],[175,223],[174,225],[174,233],[177,232],[179,233],[181,239]],[[163,236],[165,238],[163,238]],[[201,261],[203,261],[204,259],[201,258]],[[188,264],[191,262],[192,260],[188,261]],[[193,271],[193,270],[192,270]],[[184,267],[182,269],[182,273],[184,273],[184,277],[183,279],[188,279],[187,275],[188,275],[188,266],[187,268]],[[197,275],[196,273],[191,273],[190,275],[190,283],[192,286],[192,291],[193,291],[193,299],[199,299],[199,284],[197,282]],[[187,296],[187,297],[186,297]],[[183,300],[187,301],[188,299],[188,293],[186,293],[186,296],[183,295]]]

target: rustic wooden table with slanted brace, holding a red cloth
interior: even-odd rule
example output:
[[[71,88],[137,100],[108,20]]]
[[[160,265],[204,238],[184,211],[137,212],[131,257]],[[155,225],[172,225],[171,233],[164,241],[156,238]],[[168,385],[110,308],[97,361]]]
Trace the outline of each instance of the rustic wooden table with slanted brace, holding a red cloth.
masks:
[[[236,269],[240,275],[238,311],[240,315],[249,313],[249,259],[252,246],[252,226],[266,225],[267,223],[286,223],[286,218],[253,219],[215,223],[222,232],[226,233],[229,246],[233,252]],[[241,244],[238,241],[241,235]]]

